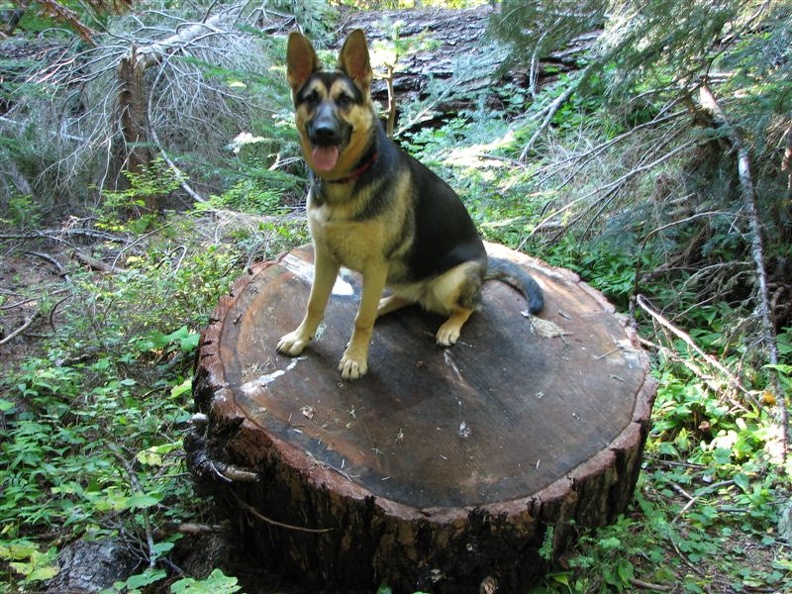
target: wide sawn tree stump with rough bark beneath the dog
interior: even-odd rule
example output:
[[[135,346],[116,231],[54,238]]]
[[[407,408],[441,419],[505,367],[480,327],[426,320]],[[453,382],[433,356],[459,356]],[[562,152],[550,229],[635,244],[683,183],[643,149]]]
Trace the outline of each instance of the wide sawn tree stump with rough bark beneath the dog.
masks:
[[[655,394],[647,357],[574,274],[487,249],[542,285],[539,317],[488,282],[460,343],[441,349],[440,318],[394,312],[377,321],[369,373],[354,382],[337,364],[356,274],[342,273],[294,359],[275,344],[302,317],[310,248],[254,266],[219,303],[186,447],[257,563],[311,591],[516,592],[580,529],[625,510]]]

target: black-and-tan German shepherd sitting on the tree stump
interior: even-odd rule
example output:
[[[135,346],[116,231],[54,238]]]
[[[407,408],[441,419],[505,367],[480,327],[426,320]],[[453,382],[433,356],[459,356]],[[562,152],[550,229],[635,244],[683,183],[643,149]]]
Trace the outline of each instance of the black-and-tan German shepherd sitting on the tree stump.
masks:
[[[542,290],[516,264],[487,258],[462,201],[439,177],[385,134],[371,99],[373,73],[363,31],[345,41],[336,70],[323,70],[311,43],[289,36],[286,78],[311,169],[308,227],[314,278],[308,307],[278,351],[299,355],[324,315],[341,266],[362,275],[352,337],[338,366],[357,379],[368,369],[377,317],[406,305],[447,316],[437,344],[451,346],[479,305],[484,280],[501,279],[542,309]],[[383,297],[385,288],[390,294]]]

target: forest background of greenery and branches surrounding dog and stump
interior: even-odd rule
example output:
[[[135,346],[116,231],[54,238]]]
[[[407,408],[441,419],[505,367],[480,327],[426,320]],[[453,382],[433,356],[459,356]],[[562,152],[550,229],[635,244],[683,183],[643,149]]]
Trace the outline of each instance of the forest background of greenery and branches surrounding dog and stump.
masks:
[[[0,589],[91,556],[86,588],[281,587],[192,491],[192,358],[245,267],[308,241],[285,35],[402,8],[372,13],[395,139],[486,239],[602,291],[659,380],[629,513],[535,591],[789,591],[792,2],[400,4],[0,2]],[[416,67],[458,10],[478,51]]]

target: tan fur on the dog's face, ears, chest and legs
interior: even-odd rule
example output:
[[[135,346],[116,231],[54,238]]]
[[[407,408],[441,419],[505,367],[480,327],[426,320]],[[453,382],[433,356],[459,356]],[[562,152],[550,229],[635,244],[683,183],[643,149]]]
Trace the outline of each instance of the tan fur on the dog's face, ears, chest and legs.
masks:
[[[318,79],[309,84],[323,99],[336,100],[354,84],[365,97],[364,105],[338,108],[339,117],[352,124],[348,144],[341,151],[331,171],[317,171],[311,156],[311,142],[307,126],[312,113],[299,106],[295,123],[300,133],[303,154],[308,165],[322,179],[333,181],[349,175],[368,147],[370,131],[376,114],[371,106],[371,67],[365,37],[360,31],[350,35],[341,51],[339,64],[347,77],[335,79],[330,88]],[[287,50],[287,80],[292,87],[295,103],[297,94],[319,68],[316,54],[302,35],[292,34]],[[352,83],[350,82],[352,81]],[[389,207],[376,216],[361,218],[372,197],[387,183],[387,191],[395,198]],[[449,346],[459,338],[460,329],[473,312],[473,301],[486,269],[486,259],[464,262],[445,273],[424,282],[400,285],[389,282],[403,277],[405,266],[401,257],[411,245],[409,230],[412,220],[412,192],[414,180],[403,172],[397,179],[381,180],[363,190],[352,191],[354,184],[327,183],[322,199],[313,192],[308,195],[308,225],[315,250],[314,281],[308,307],[300,325],[278,342],[278,350],[298,355],[311,341],[327,305],[340,266],[361,273],[363,289],[355,317],[352,337],[344,351],[339,370],[345,379],[357,379],[368,369],[368,350],[374,322],[400,307],[420,303],[430,311],[449,316],[437,332],[437,343]],[[395,246],[395,249],[394,249]],[[386,286],[392,295],[382,298]],[[467,305],[470,305],[469,307]]]

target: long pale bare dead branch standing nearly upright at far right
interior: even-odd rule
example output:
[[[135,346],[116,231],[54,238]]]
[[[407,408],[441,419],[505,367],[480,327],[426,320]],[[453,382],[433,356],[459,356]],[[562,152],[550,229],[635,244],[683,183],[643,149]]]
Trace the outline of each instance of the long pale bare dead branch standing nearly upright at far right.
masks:
[[[740,178],[740,191],[743,203],[747,212],[751,235],[751,254],[756,267],[757,281],[757,314],[760,323],[760,340],[767,349],[768,362],[770,365],[778,365],[779,353],[778,342],[776,340],[775,327],[770,317],[770,296],[767,289],[767,271],[764,264],[764,245],[762,242],[762,228],[759,220],[759,210],[757,208],[756,188],[751,179],[751,154],[750,149],[743,142],[742,136],[737,129],[732,126],[726,118],[720,104],[718,103],[712,90],[705,80],[699,89],[701,104],[708,109],[715,121],[718,122],[737,150],[737,172]],[[786,398],[781,387],[780,380],[775,374],[771,374],[770,383],[775,392],[776,402],[778,403],[778,417],[781,425],[781,435],[783,441],[783,458],[787,459],[789,450],[789,413],[787,411]]]

